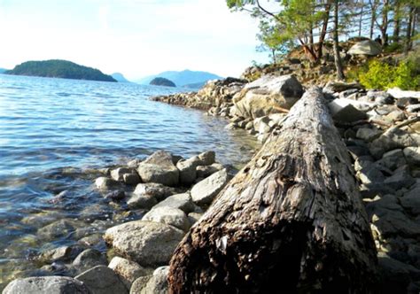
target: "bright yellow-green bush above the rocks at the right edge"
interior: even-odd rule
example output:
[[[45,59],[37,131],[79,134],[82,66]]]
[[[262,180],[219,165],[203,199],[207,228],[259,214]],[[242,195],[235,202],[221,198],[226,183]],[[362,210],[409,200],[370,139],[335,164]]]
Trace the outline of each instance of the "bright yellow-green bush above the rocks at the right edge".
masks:
[[[399,87],[401,89],[420,89],[420,75],[416,74],[415,63],[411,61],[401,62],[398,66],[392,66],[385,62],[373,60],[369,63],[369,69],[359,74],[362,85],[368,89],[389,89]]]

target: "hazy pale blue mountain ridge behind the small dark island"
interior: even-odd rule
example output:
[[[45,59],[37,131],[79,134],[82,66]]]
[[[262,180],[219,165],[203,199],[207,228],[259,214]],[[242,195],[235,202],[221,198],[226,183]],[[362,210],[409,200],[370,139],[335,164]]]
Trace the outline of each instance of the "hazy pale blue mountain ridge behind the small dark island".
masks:
[[[147,76],[137,82],[147,85],[156,77],[161,77],[161,78],[168,79],[170,81],[174,81],[178,87],[183,87],[184,85],[188,85],[192,83],[205,83],[206,81],[209,81],[209,80],[222,79],[222,77],[217,74],[211,74],[207,72],[195,72],[195,71],[186,69],[182,72],[170,71],[170,72],[163,72],[160,74]]]

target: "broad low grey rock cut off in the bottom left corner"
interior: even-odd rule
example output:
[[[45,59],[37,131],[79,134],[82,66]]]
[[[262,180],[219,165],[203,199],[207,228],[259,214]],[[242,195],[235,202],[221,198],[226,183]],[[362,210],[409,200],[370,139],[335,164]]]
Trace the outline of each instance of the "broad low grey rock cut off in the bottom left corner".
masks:
[[[10,282],[3,294],[90,294],[83,282],[68,276],[33,276]]]

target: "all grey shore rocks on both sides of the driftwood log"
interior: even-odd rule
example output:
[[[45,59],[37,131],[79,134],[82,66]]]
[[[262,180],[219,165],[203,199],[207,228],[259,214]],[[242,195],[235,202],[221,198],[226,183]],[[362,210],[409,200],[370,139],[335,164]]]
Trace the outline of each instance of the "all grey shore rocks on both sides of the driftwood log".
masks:
[[[253,82],[211,81],[198,93],[155,101],[206,110],[245,128],[264,142],[281,131],[284,117],[305,89],[293,75],[265,75]],[[420,290],[420,96],[401,90],[366,90],[356,83],[324,85],[333,119],[354,160],[363,203],[377,246],[385,293]],[[107,257],[93,248],[43,252],[52,276],[11,282],[4,293],[166,293],[168,263],[185,233],[229,182],[229,171],[207,151],[181,159],[157,151],[144,161],[106,170],[95,181],[111,202],[126,201],[141,220],[107,228]],[[132,187],[127,197],[124,187]],[[66,224],[61,224],[66,228]],[[87,244],[89,241],[87,241]],[[55,275],[77,267],[74,278]]]

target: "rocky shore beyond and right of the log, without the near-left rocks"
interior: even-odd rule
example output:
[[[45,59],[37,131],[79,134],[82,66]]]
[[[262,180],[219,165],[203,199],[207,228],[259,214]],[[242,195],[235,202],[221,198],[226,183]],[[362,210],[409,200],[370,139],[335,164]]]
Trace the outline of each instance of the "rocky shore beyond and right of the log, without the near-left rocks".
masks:
[[[377,246],[381,292],[418,293],[420,92],[337,81],[321,88],[353,159]],[[303,90],[293,75],[267,74],[249,83],[211,81],[196,94],[153,99],[226,117],[227,128],[245,128],[264,142]]]

